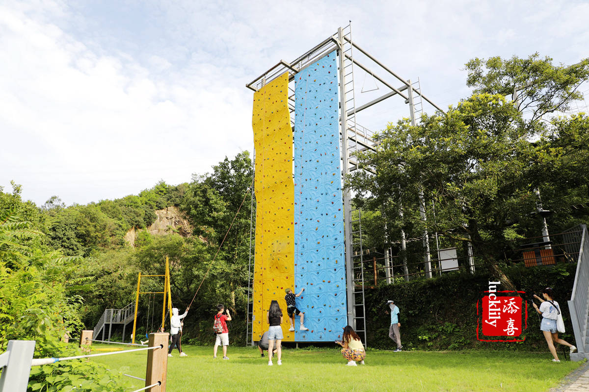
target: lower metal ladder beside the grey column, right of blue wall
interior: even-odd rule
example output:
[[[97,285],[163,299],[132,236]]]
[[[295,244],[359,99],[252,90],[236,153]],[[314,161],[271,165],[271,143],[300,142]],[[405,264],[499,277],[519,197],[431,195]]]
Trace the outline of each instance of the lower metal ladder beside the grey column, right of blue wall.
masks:
[[[358,219],[353,219],[358,212]],[[352,210],[352,261],[353,261],[353,279],[354,284],[354,329],[360,336],[364,335],[364,344],[366,341],[366,306],[364,299],[364,249],[362,247],[362,210]]]

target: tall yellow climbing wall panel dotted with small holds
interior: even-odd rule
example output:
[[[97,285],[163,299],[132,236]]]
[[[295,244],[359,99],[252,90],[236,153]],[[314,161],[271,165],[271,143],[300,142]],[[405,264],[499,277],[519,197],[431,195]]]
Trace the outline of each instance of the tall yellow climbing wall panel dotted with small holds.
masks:
[[[256,149],[256,253],[254,259],[253,340],[268,329],[266,312],[277,300],[289,331],[284,289],[294,290],[293,133],[288,107],[289,75],[284,73],[254,93],[252,127]]]

